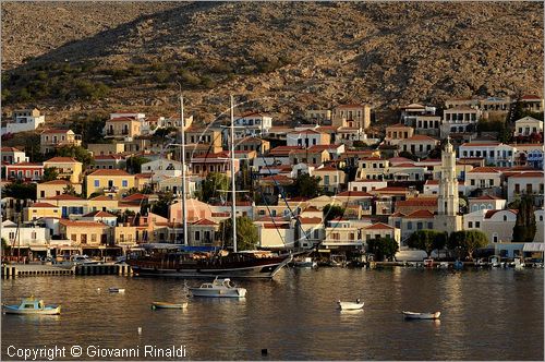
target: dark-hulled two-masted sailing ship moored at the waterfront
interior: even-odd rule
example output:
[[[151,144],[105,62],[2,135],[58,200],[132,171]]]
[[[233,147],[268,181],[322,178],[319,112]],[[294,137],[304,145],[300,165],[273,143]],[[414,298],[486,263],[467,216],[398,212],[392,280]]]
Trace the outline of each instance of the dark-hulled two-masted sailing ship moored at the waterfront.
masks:
[[[182,253],[169,245],[169,249],[156,248],[147,255],[129,257],[126,263],[131,265],[136,275],[162,276],[162,277],[222,277],[222,278],[272,278],[282,267],[291,262],[292,255],[277,255],[266,251],[238,252],[237,251],[237,203],[234,186],[234,105],[231,96],[231,219],[233,232],[233,252],[221,250],[214,255],[196,257],[191,253]],[[184,122],[183,122],[183,98],[180,96],[180,113],[182,119],[182,170],[184,162]],[[182,213],[184,245],[187,245],[187,224],[185,207],[185,174],[182,171]]]

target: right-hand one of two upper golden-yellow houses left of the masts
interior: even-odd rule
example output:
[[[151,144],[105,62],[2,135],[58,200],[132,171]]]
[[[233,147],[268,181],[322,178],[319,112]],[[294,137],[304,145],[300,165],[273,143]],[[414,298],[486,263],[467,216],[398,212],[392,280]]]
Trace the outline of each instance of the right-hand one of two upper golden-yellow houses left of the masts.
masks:
[[[87,197],[93,193],[104,193],[117,198],[134,188],[134,174],[123,170],[96,170],[87,174]]]

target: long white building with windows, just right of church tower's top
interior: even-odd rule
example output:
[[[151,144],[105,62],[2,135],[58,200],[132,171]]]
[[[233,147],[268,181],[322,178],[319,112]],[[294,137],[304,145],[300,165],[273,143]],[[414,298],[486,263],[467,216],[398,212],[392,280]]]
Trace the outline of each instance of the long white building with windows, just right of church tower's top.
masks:
[[[498,142],[464,143],[458,148],[460,158],[484,158],[487,165],[511,167],[514,164],[517,148]]]

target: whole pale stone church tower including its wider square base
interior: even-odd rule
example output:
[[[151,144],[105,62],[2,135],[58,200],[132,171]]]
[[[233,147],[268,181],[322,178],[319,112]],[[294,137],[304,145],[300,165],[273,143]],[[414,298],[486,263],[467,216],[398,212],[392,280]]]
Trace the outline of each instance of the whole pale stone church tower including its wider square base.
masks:
[[[462,217],[459,212],[458,179],[456,178],[456,152],[447,138],[441,153],[441,174],[439,195],[437,197],[437,215],[434,216],[434,229],[453,232],[462,229]]]

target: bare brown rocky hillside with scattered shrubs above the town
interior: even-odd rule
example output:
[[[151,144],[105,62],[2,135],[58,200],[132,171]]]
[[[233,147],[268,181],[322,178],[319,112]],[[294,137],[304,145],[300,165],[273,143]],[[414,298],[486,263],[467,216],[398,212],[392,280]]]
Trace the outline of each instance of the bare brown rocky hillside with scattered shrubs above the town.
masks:
[[[168,114],[175,81],[206,121],[229,93],[298,113],[543,86],[538,2],[13,2],[2,4],[2,39],[8,107],[35,102],[59,117]]]

